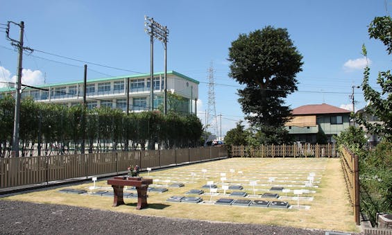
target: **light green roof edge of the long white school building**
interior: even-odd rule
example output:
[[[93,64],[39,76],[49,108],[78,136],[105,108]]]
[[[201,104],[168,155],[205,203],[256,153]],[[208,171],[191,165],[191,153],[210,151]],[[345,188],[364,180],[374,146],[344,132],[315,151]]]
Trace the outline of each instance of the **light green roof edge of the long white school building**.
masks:
[[[157,72],[154,73],[154,76],[157,75],[163,75],[164,72]],[[184,78],[185,80],[189,80],[190,82],[195,82],[196,84],[199,84],[200,82],[198,82],[198,80],[194,80],[193,78],[189,78],[188,76],[185,76],[182,73],[178,73],[176,71],[167,71],[167,74],[173,74],[175,76],[178,76],[180,78]],[[120,79],[120,78],[140,78],[140,77],[146,77],[146,76],[150,76],[150,73],[140,73],[140,74],[134,74],[134,75],[127,75],[127,76],[117,76],[117,77],[109,77],[109,78],[96,78],[96,79],[87,79],[87,83],[89,82],[102,82],[102,81],[106,81],[106,80],[116,80],[116,79]],[[83,80],[80,81],[76,81],[76,82],[59,82],[59,83],[52,83],[52,84],[45,84],[45,85],[35,85],[35,87],[52,87],[52,86],[64,86],[64,85],[73,85],[73,84],[78,84],[78,83],[82,83]],[[28,89],[28,88],[27,88]],[[0,88],[0,92],[8,92],[8,91],[13,91],[15,90],[15,88],[8,88],[8,87],[3,87]]]

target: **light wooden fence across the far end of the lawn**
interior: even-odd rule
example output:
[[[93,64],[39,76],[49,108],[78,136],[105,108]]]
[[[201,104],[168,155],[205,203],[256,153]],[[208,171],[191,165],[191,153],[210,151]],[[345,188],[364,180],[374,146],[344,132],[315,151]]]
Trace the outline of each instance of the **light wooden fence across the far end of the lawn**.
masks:
[[[232,157],[337,157],[334,144],[232,146]]]

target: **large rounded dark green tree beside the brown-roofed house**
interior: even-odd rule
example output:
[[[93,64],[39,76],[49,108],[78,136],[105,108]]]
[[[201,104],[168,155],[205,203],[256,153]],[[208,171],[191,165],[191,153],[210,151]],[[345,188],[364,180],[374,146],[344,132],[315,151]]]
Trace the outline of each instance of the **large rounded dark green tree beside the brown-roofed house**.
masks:
[[[239,35],[232,42],[228,60],[231,62],[229,76],[246,85],[238,90],[246,119],[258,127],[261,134],[282,130],[290,116],[284,98],[298,89],[296,74],[302,71],[303,64],[302,55],[293,45],[287,29],[267,26]],[[284,142],[284,136],[271,139],[271,143]],[[269,143],[269,139],[264,140]]]

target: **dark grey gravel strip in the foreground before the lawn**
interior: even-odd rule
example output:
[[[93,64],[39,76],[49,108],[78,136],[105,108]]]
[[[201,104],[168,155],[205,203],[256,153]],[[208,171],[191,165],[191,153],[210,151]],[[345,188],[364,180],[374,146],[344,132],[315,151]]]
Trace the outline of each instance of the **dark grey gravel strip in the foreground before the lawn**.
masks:
[[[325,231],[0,200],[0,234],[325,234]]]

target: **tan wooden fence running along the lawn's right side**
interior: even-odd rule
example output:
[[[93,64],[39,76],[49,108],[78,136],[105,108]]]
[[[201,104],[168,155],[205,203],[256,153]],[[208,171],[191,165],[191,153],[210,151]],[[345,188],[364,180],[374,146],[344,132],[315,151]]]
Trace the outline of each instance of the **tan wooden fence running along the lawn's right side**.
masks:
[[[344,179],[350,195],[352,211],[354,212],[355,223],[361,224],[359,209],[359,159],[346,147],[341,148],[341,166],[343,168]]]

